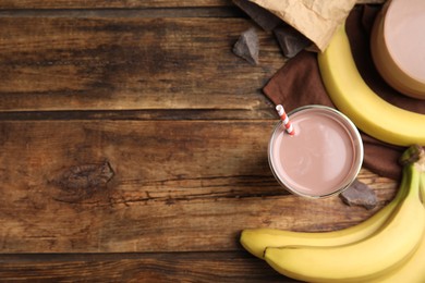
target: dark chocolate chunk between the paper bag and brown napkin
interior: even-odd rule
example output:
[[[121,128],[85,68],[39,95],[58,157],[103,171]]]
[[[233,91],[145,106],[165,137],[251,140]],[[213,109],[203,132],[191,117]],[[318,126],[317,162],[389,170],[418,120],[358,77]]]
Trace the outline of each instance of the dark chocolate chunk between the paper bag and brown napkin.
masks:
[[[274,29],[279,47],[287,58],[293,58],[301,50],[312,45],[312,41],[290,25],[278,26]]]

